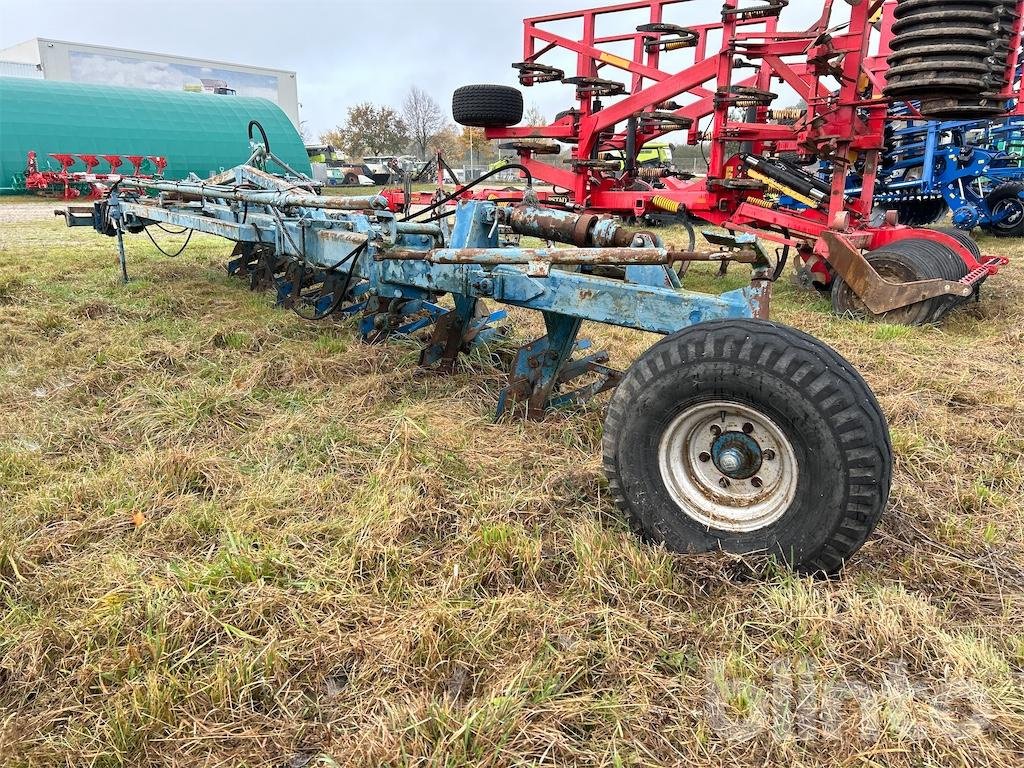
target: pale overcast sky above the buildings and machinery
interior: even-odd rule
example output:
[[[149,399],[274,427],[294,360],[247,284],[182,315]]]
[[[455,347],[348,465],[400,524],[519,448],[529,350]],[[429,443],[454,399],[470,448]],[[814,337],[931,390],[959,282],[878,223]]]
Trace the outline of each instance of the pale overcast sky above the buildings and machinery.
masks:
[[[445,111],[460,85],[515,85],[511,63],[522,58],[522,18],[587,5],[588,0],[0,0],[0,48],[49,37],[293,70],[301,118],[316,136],[343,122],[346,109],[359,101],[397,106],[414,83]],[[707,24],[721,6],[721,0],[691,0],[671,7],[666,20]],[[818,13],[817,0],[794,0],[782,18],[786,29],[803,29]],[[622,18],[613,28],[599,27],[598,34],[628,32],[644,20]],[[553,29],[577,36],[567,26]],[[672,55],[685,61],[687,53]],[[571,59],[543,60],[573,68]],[[571,89],[556,83],[524,89],[524,95],[527,106],[536,104],[549,119],[573,105]]]

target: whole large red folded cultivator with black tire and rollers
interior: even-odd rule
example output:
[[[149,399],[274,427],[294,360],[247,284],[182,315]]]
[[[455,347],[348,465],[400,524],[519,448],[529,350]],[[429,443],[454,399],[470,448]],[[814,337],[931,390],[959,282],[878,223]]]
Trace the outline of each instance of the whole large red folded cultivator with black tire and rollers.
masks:
[[[666,20],[681,2],[635,0],[527,18],[524,57],[513,65],[519,82],[571,85],[578,105],[550,125],[515,126],[517,89],[473,85],[456,91],[455,119],[509,139],[519,163],[551,185],[548,197],[561,191],[596,213],[694,216],[794,248],[802,273],[830,288],[840,311],[933,322],[1006,263],[982,256],[963,234],[871,214],[890,94],[920,101],[926,117],[990,117],[1017,99],[1019,0],[970,0],[977,11],[966,15],[942,0],[863,0],[850,4],[848,20],[825,0],[818,20],[802,31],[780,31],[785,0],[726,0],[721,20],[685,27]],[[607,27],[638,12],[649,20],[635,30],[596,34],[599,20]],[[572,24],[579,37],[554,31]],[[957,35],[972,44],[954,44]],[[626,48],[631,55],[620,54]],[[575,73],[545,61],[559,52],[571,54]],[[780,84],[806,109],[776,109]],[[707,177],[653,177],[637,167],[639,150],[673,131],[710,144]],[[537,159],[562,143],[573,147],[566,167]],[[805,169],[821,162],[830,181]],[[863,179],[854,195],[846,189],[851,169]]]

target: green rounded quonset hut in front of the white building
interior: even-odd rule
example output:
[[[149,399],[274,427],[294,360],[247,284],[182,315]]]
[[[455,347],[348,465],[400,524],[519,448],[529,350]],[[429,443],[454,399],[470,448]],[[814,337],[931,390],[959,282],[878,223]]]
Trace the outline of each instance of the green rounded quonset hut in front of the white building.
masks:
[[[51,153],[158,155],[166,178],[209,176],[248,159],[250,120],[274,155],[311,172],[295,126],[265,98],[0,77],[0,193],[19,188],[30,151],[41,169],[59,169]],[[106,170],[101,160],[96,171]],[[131,173],[127,160],[120,171]]]

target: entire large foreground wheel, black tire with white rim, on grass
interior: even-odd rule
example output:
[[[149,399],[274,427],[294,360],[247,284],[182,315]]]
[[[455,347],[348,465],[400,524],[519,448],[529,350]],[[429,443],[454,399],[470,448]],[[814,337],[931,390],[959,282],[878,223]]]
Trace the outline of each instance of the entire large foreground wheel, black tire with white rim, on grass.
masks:
[[[767,321],[716,321],[633,364],[608,408],[603,465],[647,541],[834,573],[885,509],[892,445],[871,390],[834,349]]]

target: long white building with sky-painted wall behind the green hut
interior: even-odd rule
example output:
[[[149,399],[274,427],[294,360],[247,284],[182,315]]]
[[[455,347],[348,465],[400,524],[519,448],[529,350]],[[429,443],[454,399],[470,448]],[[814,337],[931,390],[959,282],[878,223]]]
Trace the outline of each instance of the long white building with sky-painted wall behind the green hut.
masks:
[[[205,90],[262,96],[299,127],[295,73],[33,38],[0,49],[0,75],[162,90]]]

